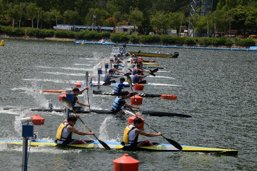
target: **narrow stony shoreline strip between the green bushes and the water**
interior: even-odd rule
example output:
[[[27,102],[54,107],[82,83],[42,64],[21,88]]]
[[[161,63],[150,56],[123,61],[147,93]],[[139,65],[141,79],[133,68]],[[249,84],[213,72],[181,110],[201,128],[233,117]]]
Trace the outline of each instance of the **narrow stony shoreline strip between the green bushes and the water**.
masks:
[[[24,36],[10,36],[10,35],[6,35],[6,34],[0,34],[0,38],[7,38],[7,39],[23,39],[23,40],[45,40],[45,41],[61,41],[61,42],[74,42],[76,41],[75,39],[69,39],[69,38],[57,38],[57,37],[45,37],[45,38],[39,38],[39,37],[36,37],[36,36],[27,36],[27,35],[24,35]],[[88,40],[90,42],[95,42],[97,43],[98,40]],[[104,41],[108,41],[108,42],[111,42],[110,39],[106,39]],[[123,42],[124,43],[124,42]],[[123,44],[122,43],[122,44]],[[127,44],[127,46],[129,45],[133,45],[132,42],[128,41],[128,42],[125,42]],[[142,43],[139,43],[138,45],[149,45],[149,46],[177,46],[178,48],[181,48],[181,47],[191,47],[191,48],[221,48],[221,49],[249,49],[248,46],[236,46],[236,45],[232,45],[232,46],[225,46],[225,45],[221,45],[221,46],[214,46],[214,45],[200,45],[200,44],[195,44],[195,45],[187,45],[187,44],[182,44],[182,45],[178,45],[178,44],[165,44],[165,43],[145,43],[145,44],[142,44]]]

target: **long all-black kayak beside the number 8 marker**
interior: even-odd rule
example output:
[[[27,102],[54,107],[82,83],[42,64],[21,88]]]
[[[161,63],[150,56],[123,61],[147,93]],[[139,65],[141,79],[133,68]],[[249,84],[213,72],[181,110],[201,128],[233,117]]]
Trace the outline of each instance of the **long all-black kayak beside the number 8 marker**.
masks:
[[[4,110],[9,110],[9,109],[14,109],[14,108],[4,108]],[[98,114],[116,114],[116,112],[111,111],[111,110],[101,110],[101,109],[90,109],[90,110],[85,110],[82,107],[74,107],[74,110],[76,113],[98,113]],[[44,112],[65,112],[66,109],[37,109],[33,108],[31,111],[44,111]],[[135,110],[136,113],[138,114],[146,114],[150,116],[178,116],[178,117],[184,117],[184,118],[191,118],[192,116],[190,115],[185,115],[185,114],[179,114],[179,113],[173,113],[173,112],[160,112],[160,111],[150,111],[150,110],[140,110],[137,111]]]

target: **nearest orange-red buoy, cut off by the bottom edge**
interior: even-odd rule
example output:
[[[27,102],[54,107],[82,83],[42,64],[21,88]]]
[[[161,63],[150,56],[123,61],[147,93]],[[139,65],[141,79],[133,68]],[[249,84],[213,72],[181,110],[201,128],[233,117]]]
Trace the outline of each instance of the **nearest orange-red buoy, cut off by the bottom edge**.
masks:
[[[113,160],[114,171],[138,171],[139,161],[124,154],[122,157]]]

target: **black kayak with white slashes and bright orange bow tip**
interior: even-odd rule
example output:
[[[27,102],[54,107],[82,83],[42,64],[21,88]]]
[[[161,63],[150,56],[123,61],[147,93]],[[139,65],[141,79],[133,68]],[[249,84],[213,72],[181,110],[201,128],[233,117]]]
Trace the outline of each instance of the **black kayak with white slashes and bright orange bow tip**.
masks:
[[[117,96],[115,93],[104,93],[101,90],[99,91],[95,91],[93,90],[93,94],[101,94],[101,95],[111,95],[111,96]],[[141,97],[162,97],[165,99],[177,99],[177,96],[173,96],[173,95],[166,95],[166,94],[149,94],[149,93],[137,93],[135,92],[133,95],[138,95]],[[130,97],[132,97],[133,95],[131,95]]]

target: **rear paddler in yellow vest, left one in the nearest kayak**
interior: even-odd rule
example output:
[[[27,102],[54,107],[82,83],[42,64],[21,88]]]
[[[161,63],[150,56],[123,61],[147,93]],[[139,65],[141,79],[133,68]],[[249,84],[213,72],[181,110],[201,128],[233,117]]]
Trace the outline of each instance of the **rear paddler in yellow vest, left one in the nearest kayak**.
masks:
[[[84,132],[78,131],[73,126],[76,124],[77,118],[79,115],[76,114],[75,116],[69,116],[67,119],[61,123],[57,129],[56,139],[57,144],[86,144],[86,142],[82,139],[74,140],[72,139],[72,133],[78,135],[94,135],[95,133],[92,132]]]

